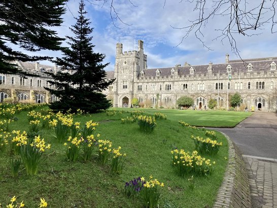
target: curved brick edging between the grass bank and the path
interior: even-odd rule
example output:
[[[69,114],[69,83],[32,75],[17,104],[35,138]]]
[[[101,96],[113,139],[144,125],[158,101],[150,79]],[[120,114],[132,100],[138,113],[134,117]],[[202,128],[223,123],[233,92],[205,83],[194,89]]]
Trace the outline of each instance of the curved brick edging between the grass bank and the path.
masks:
[[[222,133],[222,132],[221,132]],[[224,133],[223,133],[224,134]],[[237,146],[228,140],[229,157],[214,207],[252,207],[246,165]]]

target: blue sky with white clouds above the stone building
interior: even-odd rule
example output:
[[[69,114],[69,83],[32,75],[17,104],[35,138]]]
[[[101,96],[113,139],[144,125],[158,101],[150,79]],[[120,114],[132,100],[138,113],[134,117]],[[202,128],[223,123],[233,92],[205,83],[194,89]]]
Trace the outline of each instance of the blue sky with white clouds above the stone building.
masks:
[[[197,18],[193,4],[176,0],[166,1],[165,5],[160,0],[133,0],[132,3],[126,0],[114,1],[115,10],[126,23],[114,19],[116,24],[114,26],[110,16],[109,0],[104,5],[101,1],[85,1],[87,18],[91,21],[91,27],[94,27],[92,33],[94,51],[106,54],[105,63],[110,62],[107,71],[114,70],[116,43],[119,41],[123,44],[123,51],[129,51],[134,48],[137,50],[137,40],[143,40],[145,53],[148,55],[148,68],[183,65],[186,61],[193,65],[207,64],[210,61],[222,63],[225,62],[226,53],[230,55],[230,59],[239,58],[232,53],[228,40],[214,40],[220,34],[216,29],[225,27],[228,17],[216,16],[203,28],[202,40],[212,49],[208,50],[197,40],[193,32],[180,44],[186,30],[172,28],[172,26],[184,27],[189,24],[189,20]],[[206,8],[210,6],[207,5]],[[60,37],[72,36],[68,27],[75,24],[73,17],[78,15],[78,8],[79,1],[67,2],[64,23],[57,28]],[[258,35],[252,37],[234,35],[242,58],[277,56],[276,34],[270,32],[270,27],[270,24],[265,24],[263,30],[254,31]],[[61,52],[37,53],[62,56]],[[42,63],[51,64],[46,61]]]

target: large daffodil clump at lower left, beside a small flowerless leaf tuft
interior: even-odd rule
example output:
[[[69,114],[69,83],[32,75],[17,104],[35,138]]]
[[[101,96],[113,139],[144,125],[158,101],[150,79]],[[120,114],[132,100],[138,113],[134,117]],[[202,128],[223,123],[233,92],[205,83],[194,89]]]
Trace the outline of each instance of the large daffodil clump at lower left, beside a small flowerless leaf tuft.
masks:
[[[39,164],[42,162],[42,154],[46,149],[50,149],[51,145],[46,145],[44,138],[40,135],[34,136],[33,140],[18,143],[20,146],[20,157],[26,169],[27,175],[37,175]]]

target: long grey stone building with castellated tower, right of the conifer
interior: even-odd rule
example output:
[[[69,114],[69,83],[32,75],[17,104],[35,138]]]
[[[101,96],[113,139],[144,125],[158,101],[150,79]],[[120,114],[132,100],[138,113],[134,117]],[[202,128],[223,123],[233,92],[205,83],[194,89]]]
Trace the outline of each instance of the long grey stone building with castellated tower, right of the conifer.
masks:
[[[228,109],[230,95],[238,92],[241,103],[261,111],[276,111],[277,57],[229,60],[206,65],[147,68],[143,41],[137,51],[122,52],[116,45],[115,71],[107,72],[107,79],[116,81],[103,93],[113,100],[114,107],[130,107],[132,98],[151,103],[153,107],[176,108],[181,96],[194,99],[202,109],[210,99],[218,100],[219,107]],[[228,95],[228,96],[227,96]]]

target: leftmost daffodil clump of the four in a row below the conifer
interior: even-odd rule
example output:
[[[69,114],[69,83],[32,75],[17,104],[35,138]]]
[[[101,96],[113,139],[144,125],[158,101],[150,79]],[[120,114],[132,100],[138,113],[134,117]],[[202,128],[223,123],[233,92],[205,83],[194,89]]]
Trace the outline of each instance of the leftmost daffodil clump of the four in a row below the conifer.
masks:
[[[64,143],[65,146],[67,146],[65,155],[68,160],[71,160],[75,162],[79,157],[80,147],[81,143],[83,142],[83,138],[77,138],[77,137],[68,137],[67,143]]]

